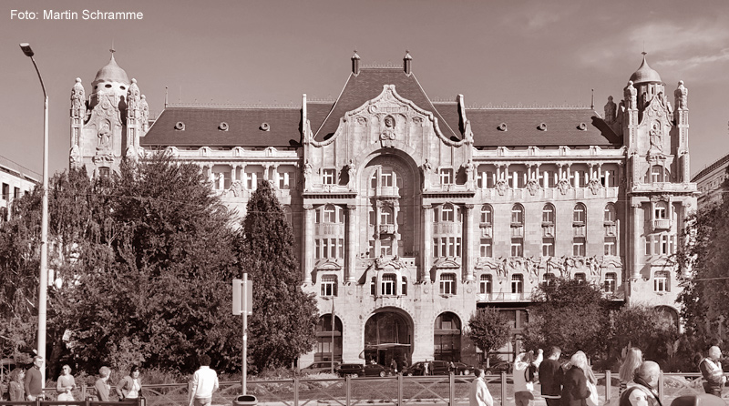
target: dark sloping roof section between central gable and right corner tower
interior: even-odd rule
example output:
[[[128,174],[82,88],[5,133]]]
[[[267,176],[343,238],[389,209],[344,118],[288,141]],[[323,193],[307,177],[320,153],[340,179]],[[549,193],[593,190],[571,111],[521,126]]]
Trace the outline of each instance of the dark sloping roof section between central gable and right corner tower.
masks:
[[[588,107],[467,108],[466,117],[474,147],[622,146]]]

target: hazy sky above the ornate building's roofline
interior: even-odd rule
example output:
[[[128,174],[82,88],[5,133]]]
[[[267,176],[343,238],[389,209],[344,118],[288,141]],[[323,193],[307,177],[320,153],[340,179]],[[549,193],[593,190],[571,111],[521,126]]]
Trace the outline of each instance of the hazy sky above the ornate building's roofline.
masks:
[[[78,18],[45,19],[49,10]],[[84,10],[142,18],[85,20]],[[36,19],[21,18],[30,13]],[[301,106],[304,93],[334,100],[354,49],[363,66],[401,66],[409,50],[431,99],[589,107],[594,89],[602,114],[645,51],[667,92],[679,80],[689,90],[692,173],[729,153],[725,0],[4,0],[0,155],[40,172],[43,93],[23,42],[50,100],[51,173],[68,166],[75,79],[90,94],[112,44],[153,115],[166,92],[169,103],[196,105]]]

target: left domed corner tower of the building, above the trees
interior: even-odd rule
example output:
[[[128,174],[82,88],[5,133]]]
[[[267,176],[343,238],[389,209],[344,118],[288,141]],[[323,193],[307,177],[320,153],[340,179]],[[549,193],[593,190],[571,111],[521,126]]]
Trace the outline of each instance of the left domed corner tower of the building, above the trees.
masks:
[[[81,79],[71,90],[70,167],[86,167],[89,176],[118,170],[122,157],[137,157],[139,137],[147,130],[149,107],[137,81],[111,58],[98,70],[85,95]]]

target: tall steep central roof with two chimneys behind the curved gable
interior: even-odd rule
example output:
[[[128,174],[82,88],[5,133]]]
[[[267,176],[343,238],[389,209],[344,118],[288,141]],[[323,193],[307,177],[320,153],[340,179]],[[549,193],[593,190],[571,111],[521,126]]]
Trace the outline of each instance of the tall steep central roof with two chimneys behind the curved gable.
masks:
[[[414,74],[407,75],[402,67],[363,67],[359,74],[350,74],[342,93],[337,97],[334,107],[324,118],[322,125],[314,127],[313,121],[310,120],[314,139],[323,141],[324,137],[334,134],[339,127],[339,119],[344,117],[346,112],[361,107],[368,100],[379,96],[385,85],[395,85],[395,92],[398,95],[412,101],[417,107],[432,112],[446,137],[462,138],[458,128],[450,127],[451,123],[438,112]]]

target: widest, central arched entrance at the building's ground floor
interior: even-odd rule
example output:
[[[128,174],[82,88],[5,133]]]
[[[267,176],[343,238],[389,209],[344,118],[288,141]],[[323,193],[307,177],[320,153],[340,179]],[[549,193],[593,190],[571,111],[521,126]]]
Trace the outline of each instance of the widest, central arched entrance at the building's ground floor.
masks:
[[[364,360],[375,360],[381,365],[411,360],[413,324],[406,315],[397,310],[379,310],[364,324]]]

